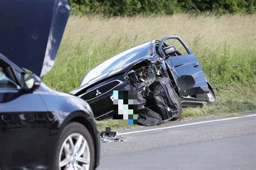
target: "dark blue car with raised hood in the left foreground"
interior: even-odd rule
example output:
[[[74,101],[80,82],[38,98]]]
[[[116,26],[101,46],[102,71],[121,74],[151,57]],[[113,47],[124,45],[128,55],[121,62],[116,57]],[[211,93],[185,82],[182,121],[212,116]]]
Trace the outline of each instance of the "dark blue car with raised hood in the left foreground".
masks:
[[[66,0],[0,1],[1,170],[99,164],[90,105],[39,78],[54,63],[69,13]]]

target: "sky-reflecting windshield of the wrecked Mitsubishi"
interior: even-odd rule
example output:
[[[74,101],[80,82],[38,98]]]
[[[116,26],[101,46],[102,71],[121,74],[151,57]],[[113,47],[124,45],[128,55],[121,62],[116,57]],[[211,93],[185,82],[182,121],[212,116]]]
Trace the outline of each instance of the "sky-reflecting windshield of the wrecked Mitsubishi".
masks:
[[[92,79],[95,79],[100,75],[105,75],[107,72],[124,67],[127,64],[132,63],[133,61],[136,61],[139,58],[142,58],[143,56],[147,56],[150,54],[152,54],[151,41],[145,42],[144,44],[130,48],[127,51],[117,54],[116,56],[113,56],[112,58],[92,68],[85,75],[80,86],[87,84],[89,81],[91,81]]]

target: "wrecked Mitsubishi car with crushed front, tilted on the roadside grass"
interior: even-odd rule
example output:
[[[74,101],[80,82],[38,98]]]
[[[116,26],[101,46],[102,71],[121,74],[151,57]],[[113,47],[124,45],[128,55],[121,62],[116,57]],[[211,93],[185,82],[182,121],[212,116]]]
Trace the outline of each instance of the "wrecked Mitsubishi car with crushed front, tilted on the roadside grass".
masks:
[[[166,40],[178,40],[187,54]],[[176,36],[151,40],[100,63],[71,94],[90,104],[97,120],[113,116],[113,90],[138,91],[138,123],[156,125],[177,119],[182,107],[215,102],[197,57]]]

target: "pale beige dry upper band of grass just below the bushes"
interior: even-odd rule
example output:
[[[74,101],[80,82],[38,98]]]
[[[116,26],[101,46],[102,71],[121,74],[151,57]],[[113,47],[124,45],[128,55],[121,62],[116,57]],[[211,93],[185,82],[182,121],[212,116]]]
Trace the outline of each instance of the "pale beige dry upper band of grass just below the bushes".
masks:
[[[111,43],[129,41],[136,45],[146,40],[173,35],[182,37],[190,46],[197,41],[197,45],[213,46],[213,48],[220,44],[230,44],[234,47],[247,44],[253,48],[256,45],[255,30],[256,15],[191,17],[180,14],[171,17],[71,17],[64,42],[71,40],[77,43],[83,37],[84,41],[89,39],[95,44],[102,44],[107,40]]]

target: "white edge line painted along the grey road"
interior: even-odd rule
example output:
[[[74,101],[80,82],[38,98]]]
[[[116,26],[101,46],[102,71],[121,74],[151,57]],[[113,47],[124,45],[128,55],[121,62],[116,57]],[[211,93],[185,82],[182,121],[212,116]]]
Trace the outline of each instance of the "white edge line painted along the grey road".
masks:
[[[239,119],[239,118],[252,117],[252,116],[256,116],[256,114],[254,114],[254,115],[246,115],[246,116],[241,116],[241,117],[230,117],[230,118],[224,118],[224,119],[217,119],[217,120],[212,120],[212,121],[203,121],[203,122],[188,123],[188,124],[182,124],[182,125],[176,125],[176,126],[167,126],[167,127],[163,127],[163,128],[154,128],[154,129],[148,129],[148,130],[140,130],[140,131],[133,131],[133,132],[124,132],[124,133],[118,133],[118,135],[132,134],[132,133],[142,133],[142,132],[149,132],[149,131],[157,131],[157,130],[178,128],[178,127],[182,127],[182,126],[190,126],[190,125],[196,125],[196,124],[202,124],[202,123],[219,122],[219,121],[228,121],[228,120],[232,120],[232,119]]]

